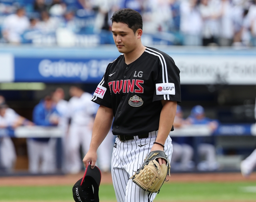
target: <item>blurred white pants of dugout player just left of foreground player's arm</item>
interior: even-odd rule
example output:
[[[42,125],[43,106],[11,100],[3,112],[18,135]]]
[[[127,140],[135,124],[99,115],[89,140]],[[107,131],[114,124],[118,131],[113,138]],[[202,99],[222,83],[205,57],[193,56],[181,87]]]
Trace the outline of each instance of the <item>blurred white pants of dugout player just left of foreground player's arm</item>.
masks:
[[[82,169],[82,157],[80,146],[82,146],[83,154],[88,152],[92,139],[92,130],[88,126],[71,124],[67,137],[67,164],[69,173],[79,173]]]

